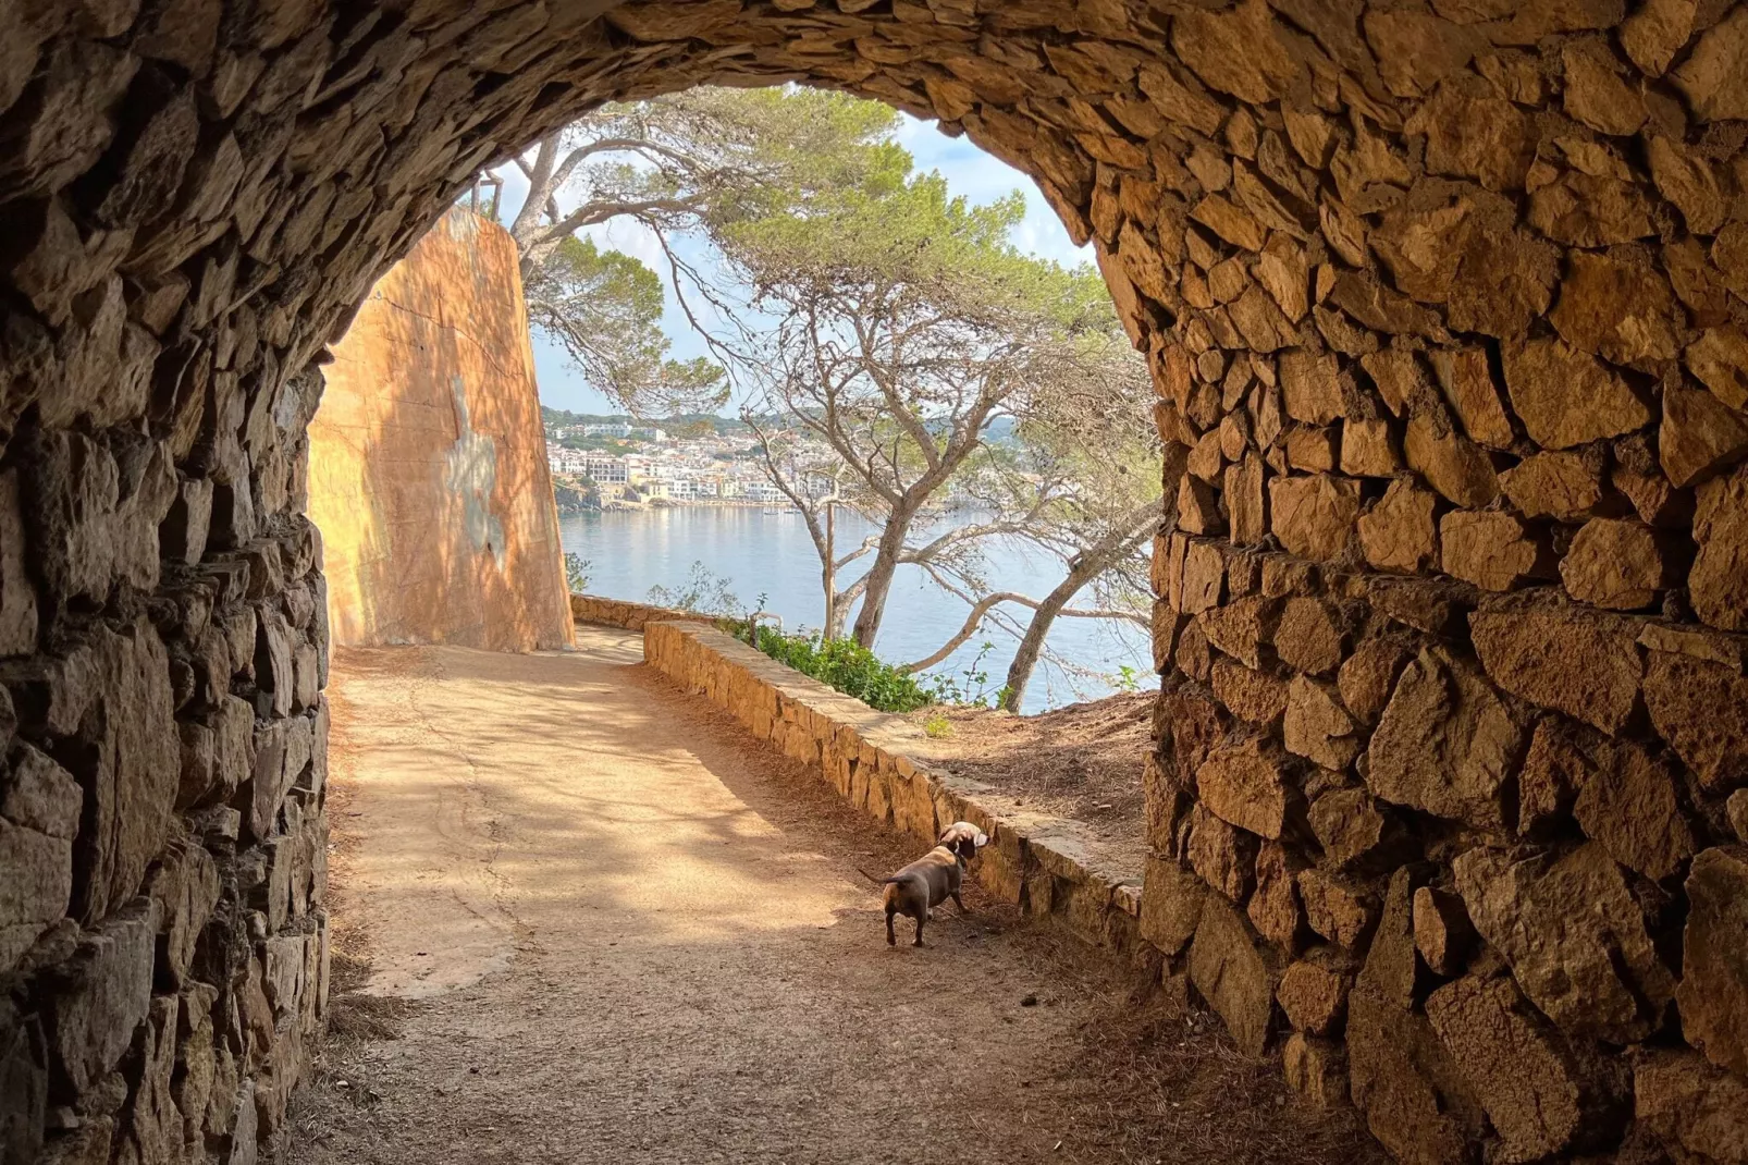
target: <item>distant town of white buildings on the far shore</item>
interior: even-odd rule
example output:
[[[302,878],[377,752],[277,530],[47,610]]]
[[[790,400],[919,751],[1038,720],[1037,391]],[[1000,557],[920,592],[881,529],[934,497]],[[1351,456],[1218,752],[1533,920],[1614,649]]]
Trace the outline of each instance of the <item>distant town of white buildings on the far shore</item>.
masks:
[[[547,467],[561,511],[652,506],[788,506],[766,478],[759,443],[729,418],[647,423],[542,409]],[[815,497],[830,493],[809,479]]]

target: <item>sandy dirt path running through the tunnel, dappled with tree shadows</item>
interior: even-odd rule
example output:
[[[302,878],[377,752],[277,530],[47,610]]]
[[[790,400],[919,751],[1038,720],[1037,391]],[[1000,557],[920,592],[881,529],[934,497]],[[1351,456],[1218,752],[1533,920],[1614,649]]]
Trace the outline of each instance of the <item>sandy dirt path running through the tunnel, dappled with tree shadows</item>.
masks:
[[[369,973],[295,1160],[1119,1160],[1110,1121],[1079,1127],[1077,1057],[1122,983],[975,892],[930,948],[888,948],[862,871],[914,847],[668,687],[638,637],[580,638],[337,654],[336,931]],[[1211,1039],[1166,1023],[1180,1057]]]

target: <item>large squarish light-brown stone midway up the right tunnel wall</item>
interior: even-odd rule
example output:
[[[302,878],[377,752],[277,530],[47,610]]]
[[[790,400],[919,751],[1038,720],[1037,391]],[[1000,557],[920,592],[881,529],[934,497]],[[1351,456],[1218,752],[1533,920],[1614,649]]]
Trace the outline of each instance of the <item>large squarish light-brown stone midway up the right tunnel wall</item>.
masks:
[[[1384,801],[1503,831],[1523,743],[1523,728],[1470,663],[1425,647],[1377,721],[1365,780]]]

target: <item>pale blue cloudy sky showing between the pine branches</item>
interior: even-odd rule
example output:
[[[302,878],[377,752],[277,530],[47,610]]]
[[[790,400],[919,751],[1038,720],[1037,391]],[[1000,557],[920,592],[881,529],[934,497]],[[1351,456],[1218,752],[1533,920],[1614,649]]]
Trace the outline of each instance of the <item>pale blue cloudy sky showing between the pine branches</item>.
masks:
[[[967,138],[949,138],[933,122],[918,121],[909,114],[900,114],[897,140],[911,150],[919,173],[939,171],[947,180],[947,189],[953,194],[965,196],[972,203],[993,203],[1014,191],[1021,191],[1026,198],[1026,215],[1012,234],[1017,248],[1044,259],[1054,259],[1065,266],[1092,261],[1092,248],[1077,248],[1061,220],[1044,201],[1044,196],[1038,194],[1038,187],[1031,178],[1007,163],[984,154]],[[528,184],[514,166],[502,166],[498,173],[503,175],[502,205],[505,206],[503,219],[509,222],[521,208],[528,194]],[[708,355],[703,339],[692,331],[675,299],[668,280],[666,259],[647,227],[633,220],[617,220],[587,227],[582,234],[593,236],[596,247],[642,259],[645,266],[661,275],[668,299],[662,324],[668,338],[673,341],[671,355],[678,359]],[[682,250],[689,262],[708,271],[708,255],[701,245],[696,241],[690,247],[682,243],[678,250]],[[535,376],[540,383],[542,404],[554,409],[570,409],[572,413],[621,411],[615,402],[591,388],[582,374],[568,366],[565,352],[558,345],[535,332],[533,348]],[[734,404],[731,402],[724,411],[732,409]]]

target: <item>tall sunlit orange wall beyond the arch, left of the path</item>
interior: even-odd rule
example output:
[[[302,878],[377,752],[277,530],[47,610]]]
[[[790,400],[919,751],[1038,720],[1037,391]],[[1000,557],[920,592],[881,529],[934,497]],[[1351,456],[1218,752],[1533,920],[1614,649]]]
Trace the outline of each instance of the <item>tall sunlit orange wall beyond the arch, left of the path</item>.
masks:
[[[371,289],[332,357],[309,425],[332,642],[568,645],[509,231],[451,210]]]

